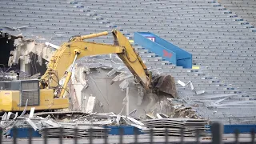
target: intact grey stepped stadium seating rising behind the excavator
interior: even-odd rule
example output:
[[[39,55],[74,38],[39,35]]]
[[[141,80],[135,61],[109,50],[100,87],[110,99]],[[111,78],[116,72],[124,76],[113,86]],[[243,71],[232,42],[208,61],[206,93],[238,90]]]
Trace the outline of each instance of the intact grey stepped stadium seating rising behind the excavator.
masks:
[[[238,94],[236,100],[248,100],[255,98],[256,92],[256,29],[251,25],[253,23],[250,24],[255,18],[244,17],[242,10],[234,14],[230,10],[237,9],[229,8],[230,5],[224,2],[230,1],[2,0],[0,29],[18,34],[21,32],[11,31],[6,26],[30,26],[22,30],[26,38],[57,45],[71,35],[118,29],[133,39],[134,32],[149,31],[193,54],[193,64],[199,69],[172,66],[158,54],[135,46],[148,67],[160,68],[182,82],[192,81],[196,89],[205,90],[206,94]],[[248,7],[246,2],[244,5]],[[252,7],[246,13],[253,13]],[[112,43],[112,38],[94,38],[94,42]],[[189,88],[177,86],[184,97],[194,94],[187,90]],[[232,101],[232,98],[226,101]],[[201,111],[209,117],[223,117],[225,114],[251,116],[255,110],[255,106],[234,106],[219,109],[222,114],[213,114],[213,110]]]

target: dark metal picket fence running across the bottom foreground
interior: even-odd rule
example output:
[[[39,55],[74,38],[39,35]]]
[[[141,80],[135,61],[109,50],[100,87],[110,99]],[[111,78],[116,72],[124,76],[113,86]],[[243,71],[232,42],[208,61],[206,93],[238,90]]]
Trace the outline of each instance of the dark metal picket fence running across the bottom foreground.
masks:
[[[94,129],[89,129],[89,133],[86,135],[86,138],[78,138],[78,129],[74,129],[74,137],[73,138],[65,138],[65,134],[63,134],[64,128],[58,128],[56,131],[55,138],[49,138],[48,128],[45,128],[42,132],[42,138],[33,138],[34,130],[32,128],[29,129],[27,141],[20,141],[18,136],[18,129],[16,127],[13,128],[13,137],[10,138],[3,138],[0,137],[0,144],[2,143],[213,143],[213,144],[222,144],[222,143],[251,143],[254,144],[255,142],[255,133],[254,130],[251,130],[251,133],[248,134],[246,137],[241,138],[239,137],[238,130],[235,131],[234,137],[230,137],[230,139],[225,139],[224,135],[222,134],[223,126],[221,123],[214,122],[211,126],[211,133],[208,137],[201,137],[199,130],[196,130],[194,137],[185,137],[184,130],[180,130],[179,137],[170,137],[169,130],[166,129],[162,133],[162,136],[156,136],[154,130],[150,130],[150,134],[139,134],[138,129],[134,129],[134,135],[123,135],[124,131],[122,128],[119,129],[119,135],[112,136],[108,134],[108,129],[103,129],[103,134],[100,136],[94,135]],[[70,133],[72,133],[70,131]],[[2,134],[2,128],[0,128],[0,134]],[[36,139],[36,141],[34,141]],[[224,140],[224,141],[223,141]],[[79,141],[79,142],[78,142]]]

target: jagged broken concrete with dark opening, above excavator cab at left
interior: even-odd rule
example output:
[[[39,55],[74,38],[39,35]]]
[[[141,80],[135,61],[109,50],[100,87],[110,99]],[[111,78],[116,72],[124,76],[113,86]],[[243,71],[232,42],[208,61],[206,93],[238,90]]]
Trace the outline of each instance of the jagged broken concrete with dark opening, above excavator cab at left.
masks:
[[[32,75],[43,74],[46,71],[46,64],[58,46],[49,42],[37,42],[34,39],[26,39],[22,35],[12,35],[12,33],[2,33],[1,46],[6,47],[2,58],[8,57],[8,60],[2,60],[1,78],[20,79],[29,78]],[[5,46],[7,43],[8,46]]]

